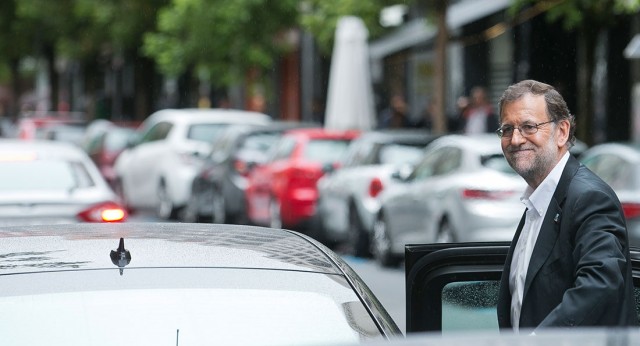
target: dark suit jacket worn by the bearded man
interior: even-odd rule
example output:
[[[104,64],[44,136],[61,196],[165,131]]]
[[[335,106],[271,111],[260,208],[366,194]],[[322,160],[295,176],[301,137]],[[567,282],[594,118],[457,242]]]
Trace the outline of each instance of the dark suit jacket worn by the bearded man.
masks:
[[[500,282],[501,328],[512,327],[509,272],[523,225],[524,216]],[[531,255],[520,328],[637,324],[620,202],[606,183],[570,157]]]

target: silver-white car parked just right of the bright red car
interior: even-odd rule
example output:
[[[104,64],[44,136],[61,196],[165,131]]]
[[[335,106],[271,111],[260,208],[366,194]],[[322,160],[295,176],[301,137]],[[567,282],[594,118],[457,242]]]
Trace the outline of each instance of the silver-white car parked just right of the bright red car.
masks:
[[[318,181],[321,239],[331,246],[346,243],[356,256],[370,256],[378,196],[393,183],[392,173],[417,163],[434,138],[426,130],[378,130],[355,139],[344,165]]]

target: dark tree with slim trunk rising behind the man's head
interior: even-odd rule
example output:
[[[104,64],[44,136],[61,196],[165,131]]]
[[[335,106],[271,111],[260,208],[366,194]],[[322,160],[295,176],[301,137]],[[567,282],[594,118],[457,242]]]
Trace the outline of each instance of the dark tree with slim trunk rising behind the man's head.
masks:
[[[578,121],[576,135],[587,144],[595,144],[590,130],[594,123],[593,73],[596,40],[600,32],[614,25],[618,16],[632,14],[640,10],[637,0],[515,0],[511,13],[528,6],[546,10],[549,21],[561,21],[566,31],[578,35]]]

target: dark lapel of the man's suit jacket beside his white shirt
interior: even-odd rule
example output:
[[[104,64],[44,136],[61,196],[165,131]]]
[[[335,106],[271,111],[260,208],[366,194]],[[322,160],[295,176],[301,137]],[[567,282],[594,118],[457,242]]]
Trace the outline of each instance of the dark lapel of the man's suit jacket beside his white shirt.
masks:
[[[567,195],[567,189],[571,183],[571,179],[575,175],[579,166],[580,162],[573,156],[570,156],[564,170],[562,171],[562,175],[558,181],[558,186],[553,193],[553,197],[551,198],[551,202],[547,208],[547,213],[542,221],[538,240],[536,241],[533,253],[531,254],[531,260],[529,261],[529,268],[527,270],[527,278],[524,284],[525,297],[527,296],[527,292],[531,287],[533,279],[536,277],[538,271],[542,268],[542,265],[551,254],[551,250],[558,239],[558,235],[560,234],[560,221],[562,219],[562,205]]]

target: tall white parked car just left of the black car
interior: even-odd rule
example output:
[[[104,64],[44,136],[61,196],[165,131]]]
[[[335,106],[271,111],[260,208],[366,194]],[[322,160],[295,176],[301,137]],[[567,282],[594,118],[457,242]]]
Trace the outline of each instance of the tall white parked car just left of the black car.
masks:
[[[211,143],[231,124],[267,124],[271,117],[230,109],[164,109],[140,125],[115,163],[116,190],[130,209],[155,209],[175,218]]]

